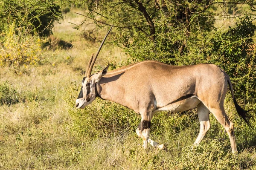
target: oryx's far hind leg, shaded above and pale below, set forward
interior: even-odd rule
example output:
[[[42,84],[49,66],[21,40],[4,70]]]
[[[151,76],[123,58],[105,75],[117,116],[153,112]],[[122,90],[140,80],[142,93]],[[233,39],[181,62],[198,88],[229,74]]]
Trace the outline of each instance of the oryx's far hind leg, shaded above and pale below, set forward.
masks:
[[[198,108],[198,118],[200,121],[200,132],[198,137],[196,138],[194,145],[195,144],[200,144],[208,130],[210,129],[210,121],[209,121],[209,109],[204,106],[202,102],[200,102],[197,106]]]

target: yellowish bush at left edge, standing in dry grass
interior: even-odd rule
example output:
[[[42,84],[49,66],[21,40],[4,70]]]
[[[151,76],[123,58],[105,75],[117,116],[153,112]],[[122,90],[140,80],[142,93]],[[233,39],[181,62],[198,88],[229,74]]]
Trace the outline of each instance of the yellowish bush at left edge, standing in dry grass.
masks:
[[[2,36],[0,66],[13,66],[15,69],[20,69],[21,66],[26,68],[28,65],[39,63],[44,52],[41,46],[46,40],[37,35],[30,35],[27,30],[17,28],[14,23]]]

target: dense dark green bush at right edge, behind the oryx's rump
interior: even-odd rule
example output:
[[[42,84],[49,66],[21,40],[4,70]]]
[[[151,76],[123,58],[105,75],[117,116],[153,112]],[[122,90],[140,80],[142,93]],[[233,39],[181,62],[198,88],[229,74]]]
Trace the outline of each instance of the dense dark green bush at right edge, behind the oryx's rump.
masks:
[[[245,16],[235,28],[218,32],[212,39],[212,56],[209,63],[216,63],[227,72],[241,99],[254,101],[256,98],[256,50],[253,36],[256,26]]]

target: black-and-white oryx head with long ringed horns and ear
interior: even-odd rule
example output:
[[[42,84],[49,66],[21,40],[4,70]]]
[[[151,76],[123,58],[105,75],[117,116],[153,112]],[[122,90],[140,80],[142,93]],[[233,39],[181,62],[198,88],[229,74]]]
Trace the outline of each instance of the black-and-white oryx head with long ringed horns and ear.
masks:
[[[109,65],[106,66],[104,69],[102,69],[100,72],[97,72],[97,73],[91,75],[93,65],[94,65],[94,63],[99,55],[99,52],[109,34],[109,32],[111,31],[111,29],[112,29],[112,26],[109,29],[105,38],[102,40],[102,43],[101,43],[95,57],[93,57],[93,55],[92,55],[89,60],[89,63],[86,68],[85,76],[82,80],[81,90],[78,95],[78,98],[76,99],[76,107],[79,109],[83,109],[88,104],[92,103],[93,100],[97,97],[96,96],[96,84],[97,84],[97,82],[99,82],[99,80],[102,78],[102,76],[104,76],[108,71]]]

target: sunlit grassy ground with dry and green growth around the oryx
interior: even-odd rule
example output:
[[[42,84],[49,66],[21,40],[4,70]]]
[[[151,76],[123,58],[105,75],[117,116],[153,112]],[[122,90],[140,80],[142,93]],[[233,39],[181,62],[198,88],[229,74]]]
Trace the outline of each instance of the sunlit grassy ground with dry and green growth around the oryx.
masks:
[[[72,88],[78,89],[88,58],[99,46],[72,29],[67,21],[82,20],[73,12],[78,10],[66,14],[53,30],[55,37],[71,42],[72,49],[45,52],[44,64],[31,66],[27,74],[0,69],[0,98],[8,101],[0,105],[1,170],[256,169],[256,129],[242,123],[230,100],[226,110],[235,123],[237,154],[231,153],[227,134],[212,115],[206,138],[200,146],[191,147],[199,132],[196,110],[158,113],[152,120],[151,137],[166,144],[167,150],[144,150],[135,133],[140,117],[131,110],[100,100],[82,111],[72,107],[78,95]],[[125,58],[121,49],[106,45],[96,65]],[[90,123],[97,114],[108,123],[108,130],[96,121]],[[88,122],[81,127],[76,115]],[[129,119],[119,118],[122,115]],[[118,129],[121,125],[124,128]],[[92,136],[92,132],[99,134]]]

